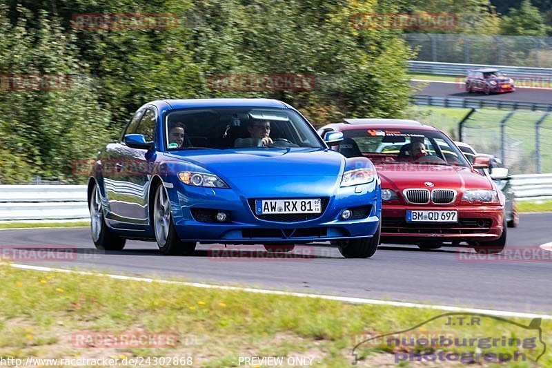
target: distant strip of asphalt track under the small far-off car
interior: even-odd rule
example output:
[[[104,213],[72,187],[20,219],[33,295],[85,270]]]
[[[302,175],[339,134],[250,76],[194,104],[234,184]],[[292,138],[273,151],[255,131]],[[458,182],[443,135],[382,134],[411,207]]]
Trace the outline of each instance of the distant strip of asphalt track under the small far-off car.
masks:
[[[480,98],[491,99],[495,101],[518,101],[530,102],[536,104],[552,104],[552,90],[538,88],[516,88],[513,93],[500,93],[498,95],[485,95],[484,93],[467,93],[464,90],[464,84],[442,83],[442,82],[420,82],[411,81],[411,86],[420,88],[416,90],[416,95],[426,95],[434,97],[460,97],[460,98]]]

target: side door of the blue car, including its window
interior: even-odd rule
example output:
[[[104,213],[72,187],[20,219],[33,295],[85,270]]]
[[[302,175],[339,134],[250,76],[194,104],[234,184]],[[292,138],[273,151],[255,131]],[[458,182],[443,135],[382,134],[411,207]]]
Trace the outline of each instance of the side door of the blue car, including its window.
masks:
[[[147,106],[139,124],[127,130],[126,134],[144,135],[146,142],[155,142],[157,110]],[[148,188],[151,171],[155,163],[155,150],[131,148],[122,144],[122,159],[119,165],[120,181],[117,186],[119,202],[117,208],[124,222],[130,224],[149,224]]]

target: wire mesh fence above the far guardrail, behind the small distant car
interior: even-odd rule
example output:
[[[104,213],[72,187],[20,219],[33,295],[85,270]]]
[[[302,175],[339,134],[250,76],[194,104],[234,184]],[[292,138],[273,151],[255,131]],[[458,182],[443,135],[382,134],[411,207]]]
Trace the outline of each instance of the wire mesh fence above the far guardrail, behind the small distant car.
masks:
[[[407,33],[417,61],[552,68],[552,37]]]

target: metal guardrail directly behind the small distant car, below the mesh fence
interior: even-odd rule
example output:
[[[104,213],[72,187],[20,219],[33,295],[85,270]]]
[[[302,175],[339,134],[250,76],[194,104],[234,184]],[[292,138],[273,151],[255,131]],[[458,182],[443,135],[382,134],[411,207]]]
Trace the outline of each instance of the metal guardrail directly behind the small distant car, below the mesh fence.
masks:
[[[466,75],[468,70],[498,68],[511,77],[552,77],[552,68],[525,68],[522,66],[496,66],[484,64],[434,63],[431,61],[408,61],[408,71],[422,74]]]

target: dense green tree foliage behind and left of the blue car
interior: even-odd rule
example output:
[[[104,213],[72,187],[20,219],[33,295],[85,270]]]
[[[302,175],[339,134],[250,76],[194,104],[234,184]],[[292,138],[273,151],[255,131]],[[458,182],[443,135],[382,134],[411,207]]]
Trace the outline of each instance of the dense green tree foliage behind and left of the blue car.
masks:
[[[147,101],[271,97],[317,126],[400,117],[408,102],[399,30],[357,29],[351,15],[408,1],[21,0],[0,9],[0,75],[75,76],[67,90],[0,91],[0,181],[68,182]],[[170,14],[175,27],[79,29],[77,14]],[[211,75],[312,75],[313,89],[215,90]]]

